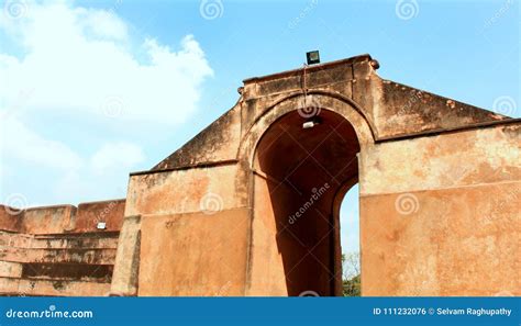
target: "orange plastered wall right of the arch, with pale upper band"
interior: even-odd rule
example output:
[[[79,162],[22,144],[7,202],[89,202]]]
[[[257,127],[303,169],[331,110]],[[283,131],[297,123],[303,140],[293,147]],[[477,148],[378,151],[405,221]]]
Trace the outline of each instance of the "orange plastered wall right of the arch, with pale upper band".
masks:
[[[363,295],[520,295],[520,125],[362,155]]]

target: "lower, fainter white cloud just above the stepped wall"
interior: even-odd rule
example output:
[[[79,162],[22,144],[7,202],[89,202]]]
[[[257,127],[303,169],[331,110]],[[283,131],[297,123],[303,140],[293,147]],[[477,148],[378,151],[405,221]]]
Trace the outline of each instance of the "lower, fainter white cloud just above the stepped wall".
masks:
[[[29,172],[34,175],[32,182],[35,183],[48,182],[46,175],[57,172],[58,177],[46,187],[46,193],[27,195],[31,205],[35,201],[56,203],[48,202],[48,196],[60,203],[123,196],[129,171],[145,160],[142,148],[128,142],[104,143],[91,156],[81,155],[62,142],[45,138],[16,117],[0,120],[0,190],[2,179],[27,175],[18,162],[34,167]],[[12,193],[31,193],[34,186],[16,184]]]

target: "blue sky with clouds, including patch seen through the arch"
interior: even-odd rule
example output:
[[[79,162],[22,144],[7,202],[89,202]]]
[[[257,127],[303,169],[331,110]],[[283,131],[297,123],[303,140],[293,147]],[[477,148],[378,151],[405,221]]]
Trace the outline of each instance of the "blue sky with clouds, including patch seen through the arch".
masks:
[[[14,1],[0,19],[0,200],[123,198],[237,100],[242,80],[369,53],[387,79],[519,117],[507,1]],[[345,202],[356,202],[357,190]],[[353,193],[353,194],[352,194]],[[357,249],[357,207],[342,209]]]

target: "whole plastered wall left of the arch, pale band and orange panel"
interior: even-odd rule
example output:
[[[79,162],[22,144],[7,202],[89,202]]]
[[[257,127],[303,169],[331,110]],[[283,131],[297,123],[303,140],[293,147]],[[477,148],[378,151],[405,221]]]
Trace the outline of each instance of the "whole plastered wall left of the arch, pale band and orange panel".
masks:
[[[125,216],[140,222],[122,234],[112,293],[244,295],[251,215],[244,180],[236,162],[133,176]],[[125,268],[133,252],[138,261]]]

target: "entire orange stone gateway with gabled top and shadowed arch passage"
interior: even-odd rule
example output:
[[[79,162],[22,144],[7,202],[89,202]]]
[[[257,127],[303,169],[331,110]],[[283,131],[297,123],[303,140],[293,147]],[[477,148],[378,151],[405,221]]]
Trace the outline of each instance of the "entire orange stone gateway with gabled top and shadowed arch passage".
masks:
[[[231,110],[131,173],[112,293],[339,294],[337,210],[356,181],[363,295],[521,293],[520,121],[378,66],[363,55],[247,79]],[[310,108],[321,121],[302,130]]]

